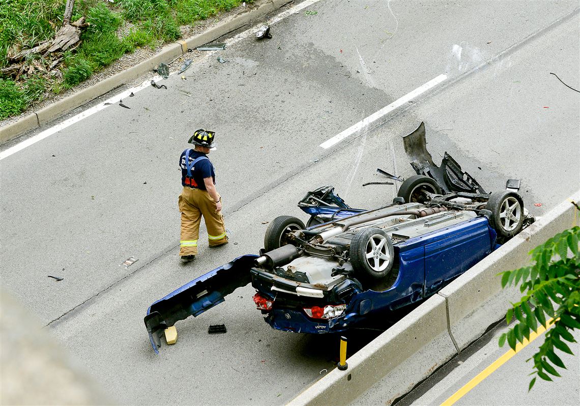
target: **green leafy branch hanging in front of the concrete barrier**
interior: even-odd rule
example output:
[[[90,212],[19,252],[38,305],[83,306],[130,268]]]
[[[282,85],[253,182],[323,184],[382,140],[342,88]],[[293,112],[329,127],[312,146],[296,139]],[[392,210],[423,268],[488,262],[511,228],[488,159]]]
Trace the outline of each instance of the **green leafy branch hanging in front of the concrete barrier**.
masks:
[[[575,202],[572,204],[580,210]],[[517,285],[521,281],[520,291],[525,291],[525,295],[507,310],[507,323],[512,320],[517,322],[501,335],[499,346],[503,346],[507,340],[515,350],[517,342],[523,343],[524,339],[530,339],[531,332],[537,332],[542,326],[548,328],[543,344],[527,360],[533,360],[534,368],[530,375],[536,375],[528,390],[534,386],[537,376],[552,380],[550,375],[560,376],[554,367],[565,369],[556,350],[572,354],[565,342],[575,343],[571,331],[580,329],[579,238],[580,227],[556,234],[530,252],[533,261],[531,266],[500,274],[502,287]],[[551,324],[553,326],[549,328]]]

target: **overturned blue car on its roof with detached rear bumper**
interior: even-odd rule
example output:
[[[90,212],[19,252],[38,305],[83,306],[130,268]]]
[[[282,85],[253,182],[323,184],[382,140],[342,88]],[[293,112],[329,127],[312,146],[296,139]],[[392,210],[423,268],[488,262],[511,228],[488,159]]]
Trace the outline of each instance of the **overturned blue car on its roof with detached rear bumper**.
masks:
[[[393,203],[354,209],[332,187],[311,191],[298,204],[310,215],[307,225],[279,216],[259,255],[236,258],[153,303],[144,322],[155,353],[165,329],[248,284],[264,320],[282,331],[339,333],[388,318],[533,221],[516,191],[486,193],[451,157],[441,179],[423,174],[437,172],[432,162],[414,162],[418,175],[401,183]]]

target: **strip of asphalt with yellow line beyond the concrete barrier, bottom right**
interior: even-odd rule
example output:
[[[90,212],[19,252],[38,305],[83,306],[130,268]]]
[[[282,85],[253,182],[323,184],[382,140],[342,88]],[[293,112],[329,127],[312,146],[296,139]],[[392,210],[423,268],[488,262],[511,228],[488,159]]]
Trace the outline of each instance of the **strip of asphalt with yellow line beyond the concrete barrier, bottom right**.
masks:
[[[513,327],[513,326],[512,326]],[[483,372],[495,360],[509,351],[509,346],[498,346],[501,333],[507,331],[505,324],[499,324],[496,328],[487,332],[482,338],[467,347],[461,354],[453,358],[443,368],[414,388],[394,406],[420,406],[450,404],[448,400],[456,391],[459,391],[475,376]],[[580,339],[580,332],[574,333],[576,340]],[[557,368],[561,378],[553,377],[553,382],[536,379],[534,387],[528,391],[528,384],[532,376],[533,361],[528,361],[542,345],[544,335],[538,336],[529,345],[524,347],[505,364],[491,372],[490,375],[474,386],[473,389],[460,393],[454,405],[458,406],[535,406],[550,404],[553,406],[567,406],[578,404],[580,399],[580,362],[577,354],[580,350],[578,343],[570,343],[570,349],[575,356],[566,353],[558,353],[566,369]],[[535,376],[535,375],[534,375]],[[464,393],[465,392],[465,393]],[[372,402],[371,402],[372,404]],[[376,403],[375,403],[376,404]]]

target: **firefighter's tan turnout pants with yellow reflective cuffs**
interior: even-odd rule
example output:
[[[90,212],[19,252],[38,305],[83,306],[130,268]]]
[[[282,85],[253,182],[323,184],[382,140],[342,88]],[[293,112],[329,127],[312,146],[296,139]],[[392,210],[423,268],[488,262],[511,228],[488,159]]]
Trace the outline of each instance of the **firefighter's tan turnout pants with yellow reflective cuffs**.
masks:
[[[216,212],[216,203],[206,190],[183,187],[178,204],[182,214],[180,256],[197,255],[201,216],[204,216],[205,227],[208,229],[209,246],[216,247],[227,242],[222,212]]]

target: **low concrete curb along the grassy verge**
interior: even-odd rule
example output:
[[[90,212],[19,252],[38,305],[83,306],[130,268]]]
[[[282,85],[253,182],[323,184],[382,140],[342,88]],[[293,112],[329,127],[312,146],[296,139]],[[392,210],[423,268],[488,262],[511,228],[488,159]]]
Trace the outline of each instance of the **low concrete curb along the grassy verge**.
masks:
[[[248,24],[249,21],[263,17],[291,1],[292,0],[269,0],[257,8],[241,13],[234,19],[219,24],[217,27],[213,27],[211,30],[202,34],[166,45],[161,49],[160,53],[154,57],[151,57],[128,70],[104,79],[104,81],[101,81],[94,86],[90,86],[90,88],[83,89],[74,95],[68,96],[50,106],[27,115],[26,117],[19,119],[17,122],[2,127],[2,131],[0,131],[0,144],[6,143],[25,132],[48,124],[53,119],[60,117],[63,114],[67,114],[75,108],[78,108],[99,96],[141,77],[150,72],[155,66],[158,66],[162,61],[166,62],[183,55],[187,52],[188,48],[197,48],[198,46],[208,44],[208,42],[215,41],[223,35],[226,35],[228,32],[237,30],[238,28]]]

